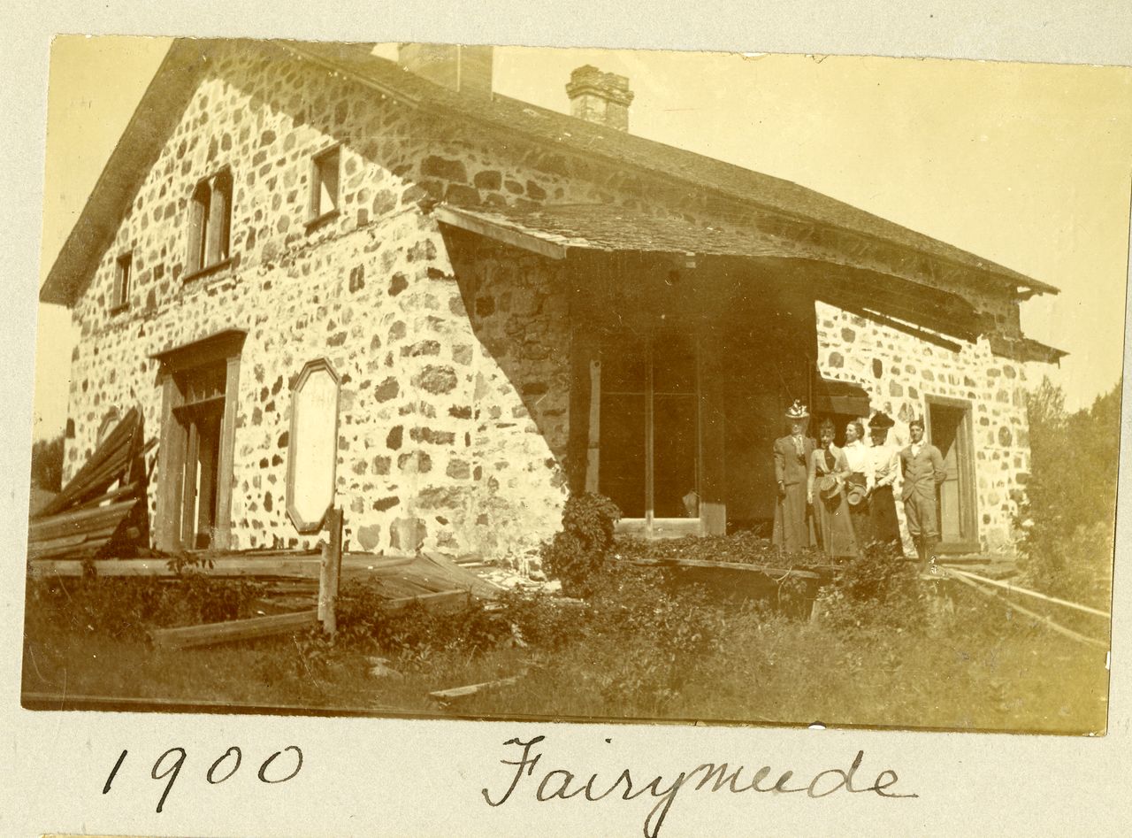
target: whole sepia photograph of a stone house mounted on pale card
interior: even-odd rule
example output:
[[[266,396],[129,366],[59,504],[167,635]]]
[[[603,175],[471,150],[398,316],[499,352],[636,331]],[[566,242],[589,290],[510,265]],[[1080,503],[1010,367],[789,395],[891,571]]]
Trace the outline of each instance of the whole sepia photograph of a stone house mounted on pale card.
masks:
[[[58,39],[25,707],[1104,733],[1130,79]]]

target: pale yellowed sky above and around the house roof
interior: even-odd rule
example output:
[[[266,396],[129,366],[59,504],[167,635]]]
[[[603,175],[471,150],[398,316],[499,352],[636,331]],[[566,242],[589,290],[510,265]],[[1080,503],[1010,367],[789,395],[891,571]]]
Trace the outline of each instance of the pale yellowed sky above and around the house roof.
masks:
[[[169,43],[53,42],[41,283]],[[792,180],[1061,288],[1023,303],[1022,326],[1070,352],[1060,368],[1030,370],[1048,373],[1067,408],[1120,378],[1132,69],[499,48],[495,89],[568,111],[565,84],[584,63],[629,78],[634,134]],[[36,438],[66,421],[72,344],[68,313],[41,305]]]

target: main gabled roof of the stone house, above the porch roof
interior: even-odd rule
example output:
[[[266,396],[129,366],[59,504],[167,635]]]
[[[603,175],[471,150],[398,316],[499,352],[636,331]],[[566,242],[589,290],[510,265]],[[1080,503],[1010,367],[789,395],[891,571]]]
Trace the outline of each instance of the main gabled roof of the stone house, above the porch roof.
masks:
[[[69,305],[74,300],[83,277],[89,274],[94,262],[109,245],[123,205],[132,199],[148,164],[156,159],[168,131],[191,95],[196,72],[204,67],[209,51],[217,43],[186,39],[174,41],[48,275],[40,292],[42,301]],[[315,61],[383,95],[445,118],[469,120],[508,137],[533,140],[561,153],[603,159],[623,169],[710,190],[752,208],[891,242],[981,272],[1011,289],[1057,292],[1053,285],[781,178],[507,96],[461,95],[408,72],[394,61],[372,55],[370,44],[252,43],[260,49],[286,50],[297,58]]]

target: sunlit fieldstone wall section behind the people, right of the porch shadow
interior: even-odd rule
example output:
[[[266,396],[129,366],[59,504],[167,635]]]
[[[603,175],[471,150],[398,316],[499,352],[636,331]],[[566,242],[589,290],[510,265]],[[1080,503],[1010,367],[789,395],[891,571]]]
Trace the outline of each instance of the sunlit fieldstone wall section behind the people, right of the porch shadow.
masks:
[[[979,541],[1009,549],[1030,468],[1023,365],[993,354],[985,337],[953,352],[824,302],[816,315],[822,375],[868,391],[873,409],[897,422],[892,444],[909,444],[908,422],[924,414],[927,396],[970,402]],[[899,503],[897,512],[903,524]]]

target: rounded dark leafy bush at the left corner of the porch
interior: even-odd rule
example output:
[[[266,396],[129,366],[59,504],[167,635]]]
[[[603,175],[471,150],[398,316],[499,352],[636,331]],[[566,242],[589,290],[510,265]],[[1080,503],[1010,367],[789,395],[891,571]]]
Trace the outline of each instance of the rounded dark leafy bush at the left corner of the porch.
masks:
[[[542,545],[542,568],[563,583],[563,591],[586,596],[590,578],[608,558],[614,527],[621,513],[608,497],[572,495],[563,508],[561,532]]]

